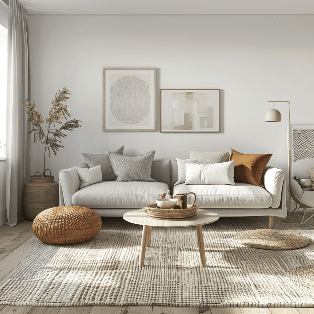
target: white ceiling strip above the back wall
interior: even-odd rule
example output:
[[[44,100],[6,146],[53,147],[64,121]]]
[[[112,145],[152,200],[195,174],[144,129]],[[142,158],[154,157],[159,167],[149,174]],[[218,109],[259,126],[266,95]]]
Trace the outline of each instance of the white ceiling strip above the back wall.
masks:
[[[314,14],[314,0],[18,1],[28,14]]]

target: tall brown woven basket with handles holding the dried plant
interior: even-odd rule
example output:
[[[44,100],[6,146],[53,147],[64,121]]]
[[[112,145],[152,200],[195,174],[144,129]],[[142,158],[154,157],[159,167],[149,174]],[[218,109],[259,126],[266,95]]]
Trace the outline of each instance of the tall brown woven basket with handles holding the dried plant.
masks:
[[[36,173],[24,186],[23,210],[28,220],[34,220],[47,208],[59,206],[59,183],[51,176],[51,171],[50,176],[35,176]]]

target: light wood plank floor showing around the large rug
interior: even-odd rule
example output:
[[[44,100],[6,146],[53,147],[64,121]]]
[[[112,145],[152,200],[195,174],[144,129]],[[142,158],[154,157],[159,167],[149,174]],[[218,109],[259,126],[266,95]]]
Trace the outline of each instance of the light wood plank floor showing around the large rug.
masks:
[[[275,219],[279,219],[275,217]],[[267,226],[261,226],[263,228]],[[287,224],[287,229],[289,225]],[[32,222],[0,226],[0,285],[42,242]],[[313,308],[173,307],[173,306],[11,306],[0,305],[0,314],[314,314]]]

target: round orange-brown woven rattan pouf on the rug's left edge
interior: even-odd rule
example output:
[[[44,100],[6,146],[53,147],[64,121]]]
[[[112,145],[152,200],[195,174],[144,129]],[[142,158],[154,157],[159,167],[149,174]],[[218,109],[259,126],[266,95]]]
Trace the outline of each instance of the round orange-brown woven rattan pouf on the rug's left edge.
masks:
[[[48,208],[33,221],[34,235],[50,244],[74,244],[90,240],[101,229],[101,218],[93,209],[78,206]]]

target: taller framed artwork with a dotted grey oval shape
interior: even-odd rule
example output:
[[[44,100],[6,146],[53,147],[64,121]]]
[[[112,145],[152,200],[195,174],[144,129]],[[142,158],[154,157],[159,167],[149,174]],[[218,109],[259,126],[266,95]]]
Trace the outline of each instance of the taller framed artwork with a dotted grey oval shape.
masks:
[[[103,131],[156,131],[157,68],[103,68]]]

